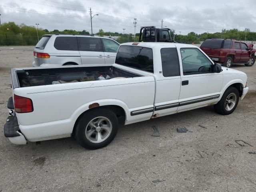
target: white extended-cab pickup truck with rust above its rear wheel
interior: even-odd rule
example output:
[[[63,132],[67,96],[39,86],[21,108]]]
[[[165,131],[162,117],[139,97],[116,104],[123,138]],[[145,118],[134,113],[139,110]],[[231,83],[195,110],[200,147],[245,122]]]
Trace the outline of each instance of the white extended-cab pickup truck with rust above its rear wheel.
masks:
[[[231,114],[248,92],[244,72],[177,43],[125,43],[109,66],[13,68],[11,78],[4,134],[12,143],[74,136],[89,149],[109,144],[118,124],[209,105]]]

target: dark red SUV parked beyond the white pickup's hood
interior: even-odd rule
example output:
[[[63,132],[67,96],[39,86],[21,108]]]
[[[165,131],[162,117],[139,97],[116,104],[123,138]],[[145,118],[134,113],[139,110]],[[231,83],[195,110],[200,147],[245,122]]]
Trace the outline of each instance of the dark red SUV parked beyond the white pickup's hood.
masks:
[[[253,44],[231,39],[207,39],[200,48],[215,62],[231,67],[233,63],[253,66],[255,52]]]

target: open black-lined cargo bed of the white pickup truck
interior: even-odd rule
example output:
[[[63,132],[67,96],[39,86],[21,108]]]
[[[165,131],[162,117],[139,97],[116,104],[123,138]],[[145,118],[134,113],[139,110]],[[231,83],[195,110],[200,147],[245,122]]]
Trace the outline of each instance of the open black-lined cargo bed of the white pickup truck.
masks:
[[[120,77],[131,78],[140,76],[114,66],[13,69],[12,77],[15,77],[15,74],[16,78],[12,78],[17,81],[13,82],[14,88],[50,85],[56,83],[94,81],[98,80],[99,76],[103,76],[106,80]]]

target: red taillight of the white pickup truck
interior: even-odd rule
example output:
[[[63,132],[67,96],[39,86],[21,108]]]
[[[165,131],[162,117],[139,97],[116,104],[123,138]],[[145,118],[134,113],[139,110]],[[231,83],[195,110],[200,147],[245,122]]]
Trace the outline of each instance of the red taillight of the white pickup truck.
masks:
[[[16,113],[29,113],[32,112],[33,103],[30,98],[14,95],[14,108]]]

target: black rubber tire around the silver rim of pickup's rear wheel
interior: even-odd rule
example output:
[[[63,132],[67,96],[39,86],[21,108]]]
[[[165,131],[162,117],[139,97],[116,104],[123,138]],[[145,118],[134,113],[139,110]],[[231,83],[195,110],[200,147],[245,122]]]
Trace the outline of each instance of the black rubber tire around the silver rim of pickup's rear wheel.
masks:
[[[101,127],[99,125],[97,128],[91,128],[89,123],[94,119],[95,120],[99,119],[97,117],[106,118],[107,119],[106,122],[108,122],[108,120],[109,120],[111,122],[110,125],[112,125],[112,130],[111,130],[110,134],[108,136],[106,136],[106,138],[102,142],[94,141],[94,142],[98,142],[98,143],[94,143],[92,140],[93,139],[97,140],[98,132],[101,132],[101,133],[107,132],[104,129],[101,131],[97,131],[96,129],[98,127]],[[102,122],[104,122],[104,121],[102,121]],[[94,133],[91,134],[91,136],[88,136],[87,132],[90,132],[90,131],[93,132],[94,129],[95,129]],[[116,114],[114,114],[114,112],[112,112],[111,110],[108,110],[108,109],[95,108],[88,112],[85,112],[84,114],[82,114],[82,116],[80,116],[80,118],[76,124],[76,128],[74,131],[74,137],[76,138],[77,142],[84,148],[98,149],[98,148],[107,146],[115,138],[117,131],[118,131],[118,119],[116,117]],[[94,135],[95,135],[95,138],[94,138]],[[101,136],[102,135],[103,134],[101,134]]]

